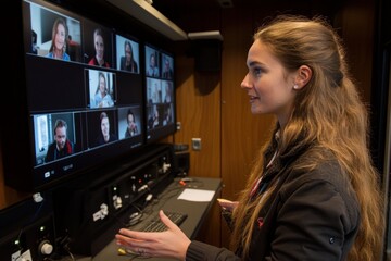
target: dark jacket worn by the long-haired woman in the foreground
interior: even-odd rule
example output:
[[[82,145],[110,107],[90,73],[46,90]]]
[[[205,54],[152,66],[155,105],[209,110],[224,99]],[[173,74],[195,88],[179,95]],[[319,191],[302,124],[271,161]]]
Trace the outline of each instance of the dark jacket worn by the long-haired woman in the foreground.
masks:
[[[260,187],[277,183],[277,189],[258,213],[247,260],[345,260],[360,225],[360,206],[349,177],[330,151],[290,148],[265,170]],[[298,161],[316,162],[310,172],[297,170]],[[266,161],[272,150],[266,153]],[[186,260],[241,260],[236,253],[192,241]]]

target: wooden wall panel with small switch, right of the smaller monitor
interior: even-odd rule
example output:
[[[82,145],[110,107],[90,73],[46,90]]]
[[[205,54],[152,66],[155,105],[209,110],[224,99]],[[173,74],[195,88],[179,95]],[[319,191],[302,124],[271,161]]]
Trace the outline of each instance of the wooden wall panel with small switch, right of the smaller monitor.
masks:
[[[177,122],[181,129],[176,144],[190,146],[190,176],[220,177],[220,74],[194,73],[194,59],[181,53],[176,58]],[[191,139],[201,138],[200,151],[191,149]],[[199,240],[218,246],[219,208],[214,204],[200,232]]]

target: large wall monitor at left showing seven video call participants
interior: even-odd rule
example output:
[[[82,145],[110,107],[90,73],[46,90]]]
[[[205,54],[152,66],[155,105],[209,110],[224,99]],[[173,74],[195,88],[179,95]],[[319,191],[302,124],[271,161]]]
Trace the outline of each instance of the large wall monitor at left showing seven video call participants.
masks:
[[[24,86],[10,99],[27,101],[28,153],[3,142],[5,183],[45,189],[142,147],[139,40],[46,1],[23,0],[22,15]]]

